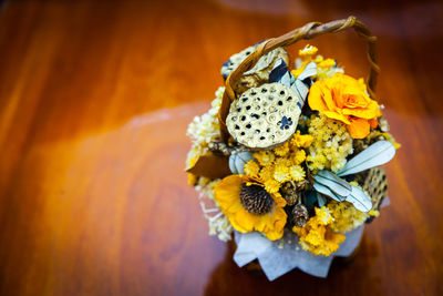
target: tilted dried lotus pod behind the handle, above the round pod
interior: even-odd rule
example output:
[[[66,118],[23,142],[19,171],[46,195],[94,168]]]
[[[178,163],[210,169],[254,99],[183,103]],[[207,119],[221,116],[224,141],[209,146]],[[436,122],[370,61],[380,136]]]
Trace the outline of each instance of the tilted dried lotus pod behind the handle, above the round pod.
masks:
[[[237,67],[256,50],[257,45],[249,47],[239,53],[229,58],[229,61],[222,67],[222,75],[226,79]],[[243,93],[250,88],[255,88],[268,82],[269,73],[272,71],[274,64],[281,58],[289,64],[288,52],[284,48],[277,48],[267,54],[262,55],[256,65],[249,71],[245,72],[239,81],[234,86],[236,93]]]

